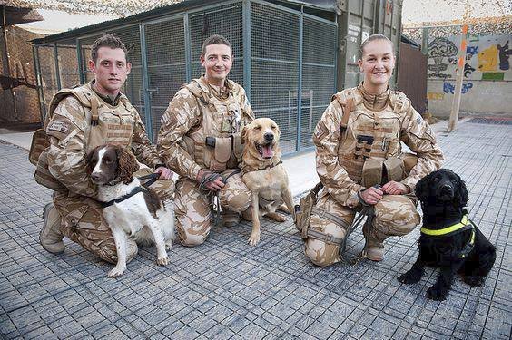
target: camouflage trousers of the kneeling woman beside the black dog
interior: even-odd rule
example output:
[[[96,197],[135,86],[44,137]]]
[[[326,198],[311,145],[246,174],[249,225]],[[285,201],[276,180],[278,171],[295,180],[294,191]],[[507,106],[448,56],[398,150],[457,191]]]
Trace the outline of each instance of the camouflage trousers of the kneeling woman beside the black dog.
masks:
[[[316,208],[325,210],[346,222],[352,223],[356,210],[342,206],[324,189]],[[374,206],[375,218],[369,232],[365,230],[364,237],[367,242],[381,243],[390,236],[403,236],[409,234],[419,224],[419,214],[416,204],[406,195],[385,195]],[[362,225],[359,225],[359,228]],[[334,223],[332,219],[324,219],[319,215],[311,214],[310,229],[331,235],[334,238],[344,239],[346,227]],[[330,266],[341,260],[340,245],[330,244],[316,238],[307,238],[305,241],[305,254],[317,266]]]

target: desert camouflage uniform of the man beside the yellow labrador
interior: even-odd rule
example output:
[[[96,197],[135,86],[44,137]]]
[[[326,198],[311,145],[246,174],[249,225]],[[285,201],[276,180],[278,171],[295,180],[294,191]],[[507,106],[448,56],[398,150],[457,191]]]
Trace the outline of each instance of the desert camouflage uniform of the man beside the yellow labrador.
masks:
[[[226,80],[226,90],[203,77],[182,87],[162,116],[158,136],[160,157],[180,178],[176,181],[174,212],[183,245],[202,244],[212,228],[212,193],[196,181],[202,169],[225,178],[240,167],[240,132],[253,120],[243,88]],[[232,136],[232,142],[231,142]],[[215,138],[215,147],[206,145]],[[251,193],[241,174],[231,176],[219,191],[222,209],[241,213],[251,205]]]

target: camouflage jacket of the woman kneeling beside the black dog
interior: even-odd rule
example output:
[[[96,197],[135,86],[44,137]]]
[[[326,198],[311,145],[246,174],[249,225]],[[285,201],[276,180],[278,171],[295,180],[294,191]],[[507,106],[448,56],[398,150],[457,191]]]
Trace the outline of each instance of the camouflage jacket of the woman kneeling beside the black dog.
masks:
[[[401,180],[411,192],[414,192],[418,180],[437,170],[443,160],[434,133],[414,110],[405,94],[389,92],[383,105],[376,108],[371,103],[377,103],[378,98],[365,100],[363,92],[359,91],[360,87],[333,96],[333,101],[323,113],[313,135],[317,172],[321,182],[334,199],[350,208],[359,204],[357,192],[365,189],[359,176],[365,161],[364,157],[358,158],[357,155],[361,149],[356,142],[359,133],[369,135],[375,141],[367,149],[369,158],[381,161],[388,157],[399,158],[403,154],[400,141],[416,153],[418,163]],[[348,108],[344,101],[350,96],[353,104]],[[347,128],[340,129],[344,108],[348,108],[350,115]]]

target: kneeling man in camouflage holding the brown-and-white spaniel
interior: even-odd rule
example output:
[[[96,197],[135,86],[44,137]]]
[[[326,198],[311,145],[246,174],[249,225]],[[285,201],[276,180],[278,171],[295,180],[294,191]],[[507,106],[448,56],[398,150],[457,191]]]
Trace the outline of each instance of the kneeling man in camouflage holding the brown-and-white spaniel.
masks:
[[[44,124],[50,146],[39,157],[35,178],[54,189],[53,204],[44,207],[40,242],[52,253],[64,251],[64,236],[108,262],[117,255],[110,228],[94,199],[96,186],[85,170],[88,151],[104,143],[130,148],[147,167],[136,175],[160,173],[153,184],[162,199],[172,195],[172,171],[165,168],[146,135],[139,113],[121,88],[130,73],[124,44],[112,34],[103,35],[92,47],[91,83],[55,94]],[[43,165],[47,164],[46,166]],[[128,260],[137,245],[128,238]]]

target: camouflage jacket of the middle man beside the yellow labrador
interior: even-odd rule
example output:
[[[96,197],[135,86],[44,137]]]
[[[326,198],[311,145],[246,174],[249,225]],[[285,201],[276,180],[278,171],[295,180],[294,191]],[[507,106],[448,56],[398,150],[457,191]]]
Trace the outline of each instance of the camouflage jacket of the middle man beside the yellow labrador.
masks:
[[[235,113],[237,126],[228,123]],[[178,175],[196,180],[200,170],[214,169],[214,152],[205,146],[205,137],[230,137],[253,119],[251,105],[238,83],[226,80],[226,92],[221,92],[203,77],[195,79],[176,92],[162,116],[157,142],[160,157]],[[232,160],[230,153],[227,158]]]

